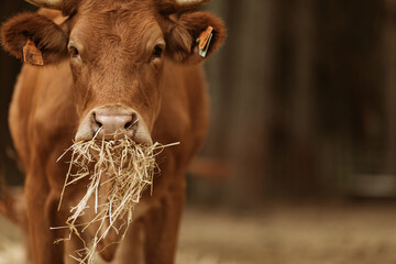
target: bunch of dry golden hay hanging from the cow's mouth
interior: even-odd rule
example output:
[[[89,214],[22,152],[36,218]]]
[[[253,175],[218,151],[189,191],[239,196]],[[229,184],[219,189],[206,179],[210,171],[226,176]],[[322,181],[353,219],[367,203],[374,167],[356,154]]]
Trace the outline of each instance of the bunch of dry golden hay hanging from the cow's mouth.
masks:
[[[77,235],[82,240],[85,249],[76,251],[77,255],[72,255],[72,257],[79,264],[90,264],[94,263],[98,244],[110,230],[114,230],[121,241],[132,222],[133,208],[139,204],[143,190],[151,187],[151,191],[153,191],[153,177],[155,173],[160,172],[155,156],[164,147],[176,144],[179,143],[162,145],[156,142],[147,146],[138,144],[127,136],[118,140],[116,135],[114,140],[110,141],[98,140],[94,136],[91,141],[73,144],[68,150],[72,152],[72,161],[58,210],[68,186],[81,180],[85,180],[84,183],[88,180],[88,185],[81,200],[72,208],[72,215],[66,221],[67,226],[61,227],[69,229],[69,237],[55,242],[68,240],[73,234]],[[86,215],[87,210],[92,210],[89,208],[91,199],[95,204],[94,219],[84,223],[77,222],[81,216]],[[92,241],[85,241],[80,232],[92,224],[99,228]]]

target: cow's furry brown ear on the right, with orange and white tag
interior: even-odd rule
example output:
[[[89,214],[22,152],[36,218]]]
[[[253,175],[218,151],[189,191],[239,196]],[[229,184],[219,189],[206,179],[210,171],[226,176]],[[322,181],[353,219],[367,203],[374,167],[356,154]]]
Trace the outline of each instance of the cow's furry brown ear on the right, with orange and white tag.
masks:
[[[202,57],[199,55],[197,40],[208,26],[213,29],[212,36],[208,43],[206,56]],[[220,47],[226,40],[226,34],[223,22],[216,15],[209,12],[184,13],[170,26],[167,34],[167,54],[177,62],[200,63]]]

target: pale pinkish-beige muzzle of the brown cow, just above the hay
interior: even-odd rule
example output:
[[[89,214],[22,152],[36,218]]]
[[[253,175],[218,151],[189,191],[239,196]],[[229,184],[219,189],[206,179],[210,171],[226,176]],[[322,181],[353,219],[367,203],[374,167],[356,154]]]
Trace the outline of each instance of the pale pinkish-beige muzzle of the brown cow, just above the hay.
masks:
[[[75,141],[117,140],[128,136],[136,143],[152,144],[147,125],[134,110],[123,106],[92,109],[80,122]]]

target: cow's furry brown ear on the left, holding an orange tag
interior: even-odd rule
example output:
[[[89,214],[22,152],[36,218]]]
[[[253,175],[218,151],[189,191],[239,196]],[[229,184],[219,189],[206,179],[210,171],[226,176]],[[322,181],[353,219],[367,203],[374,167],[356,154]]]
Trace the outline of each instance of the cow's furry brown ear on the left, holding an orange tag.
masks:
[[[6,51],[23,59],[23,47],[31,40],[40,50],[44,65],[61,62],[67,56],[67,34],[62,25],[37,13],[22,13],[1,28]]]

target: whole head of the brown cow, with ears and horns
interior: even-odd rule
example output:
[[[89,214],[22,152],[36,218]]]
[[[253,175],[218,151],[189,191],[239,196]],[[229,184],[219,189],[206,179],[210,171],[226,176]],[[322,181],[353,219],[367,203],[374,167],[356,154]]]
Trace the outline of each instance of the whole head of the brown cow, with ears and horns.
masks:
[[[208,55],[224,40],[220,19],[208,12],[182,12],[210,0],[28,0],[61,10],[55,23],[23,13],[2,26],[7,51],[22,58],[32,40],[44,67],[69,61],[79,125],[76,141],[118,130],[140,143],[151,142],[160,112],[164,64],[196,64],[196,38],[212,26]]]

